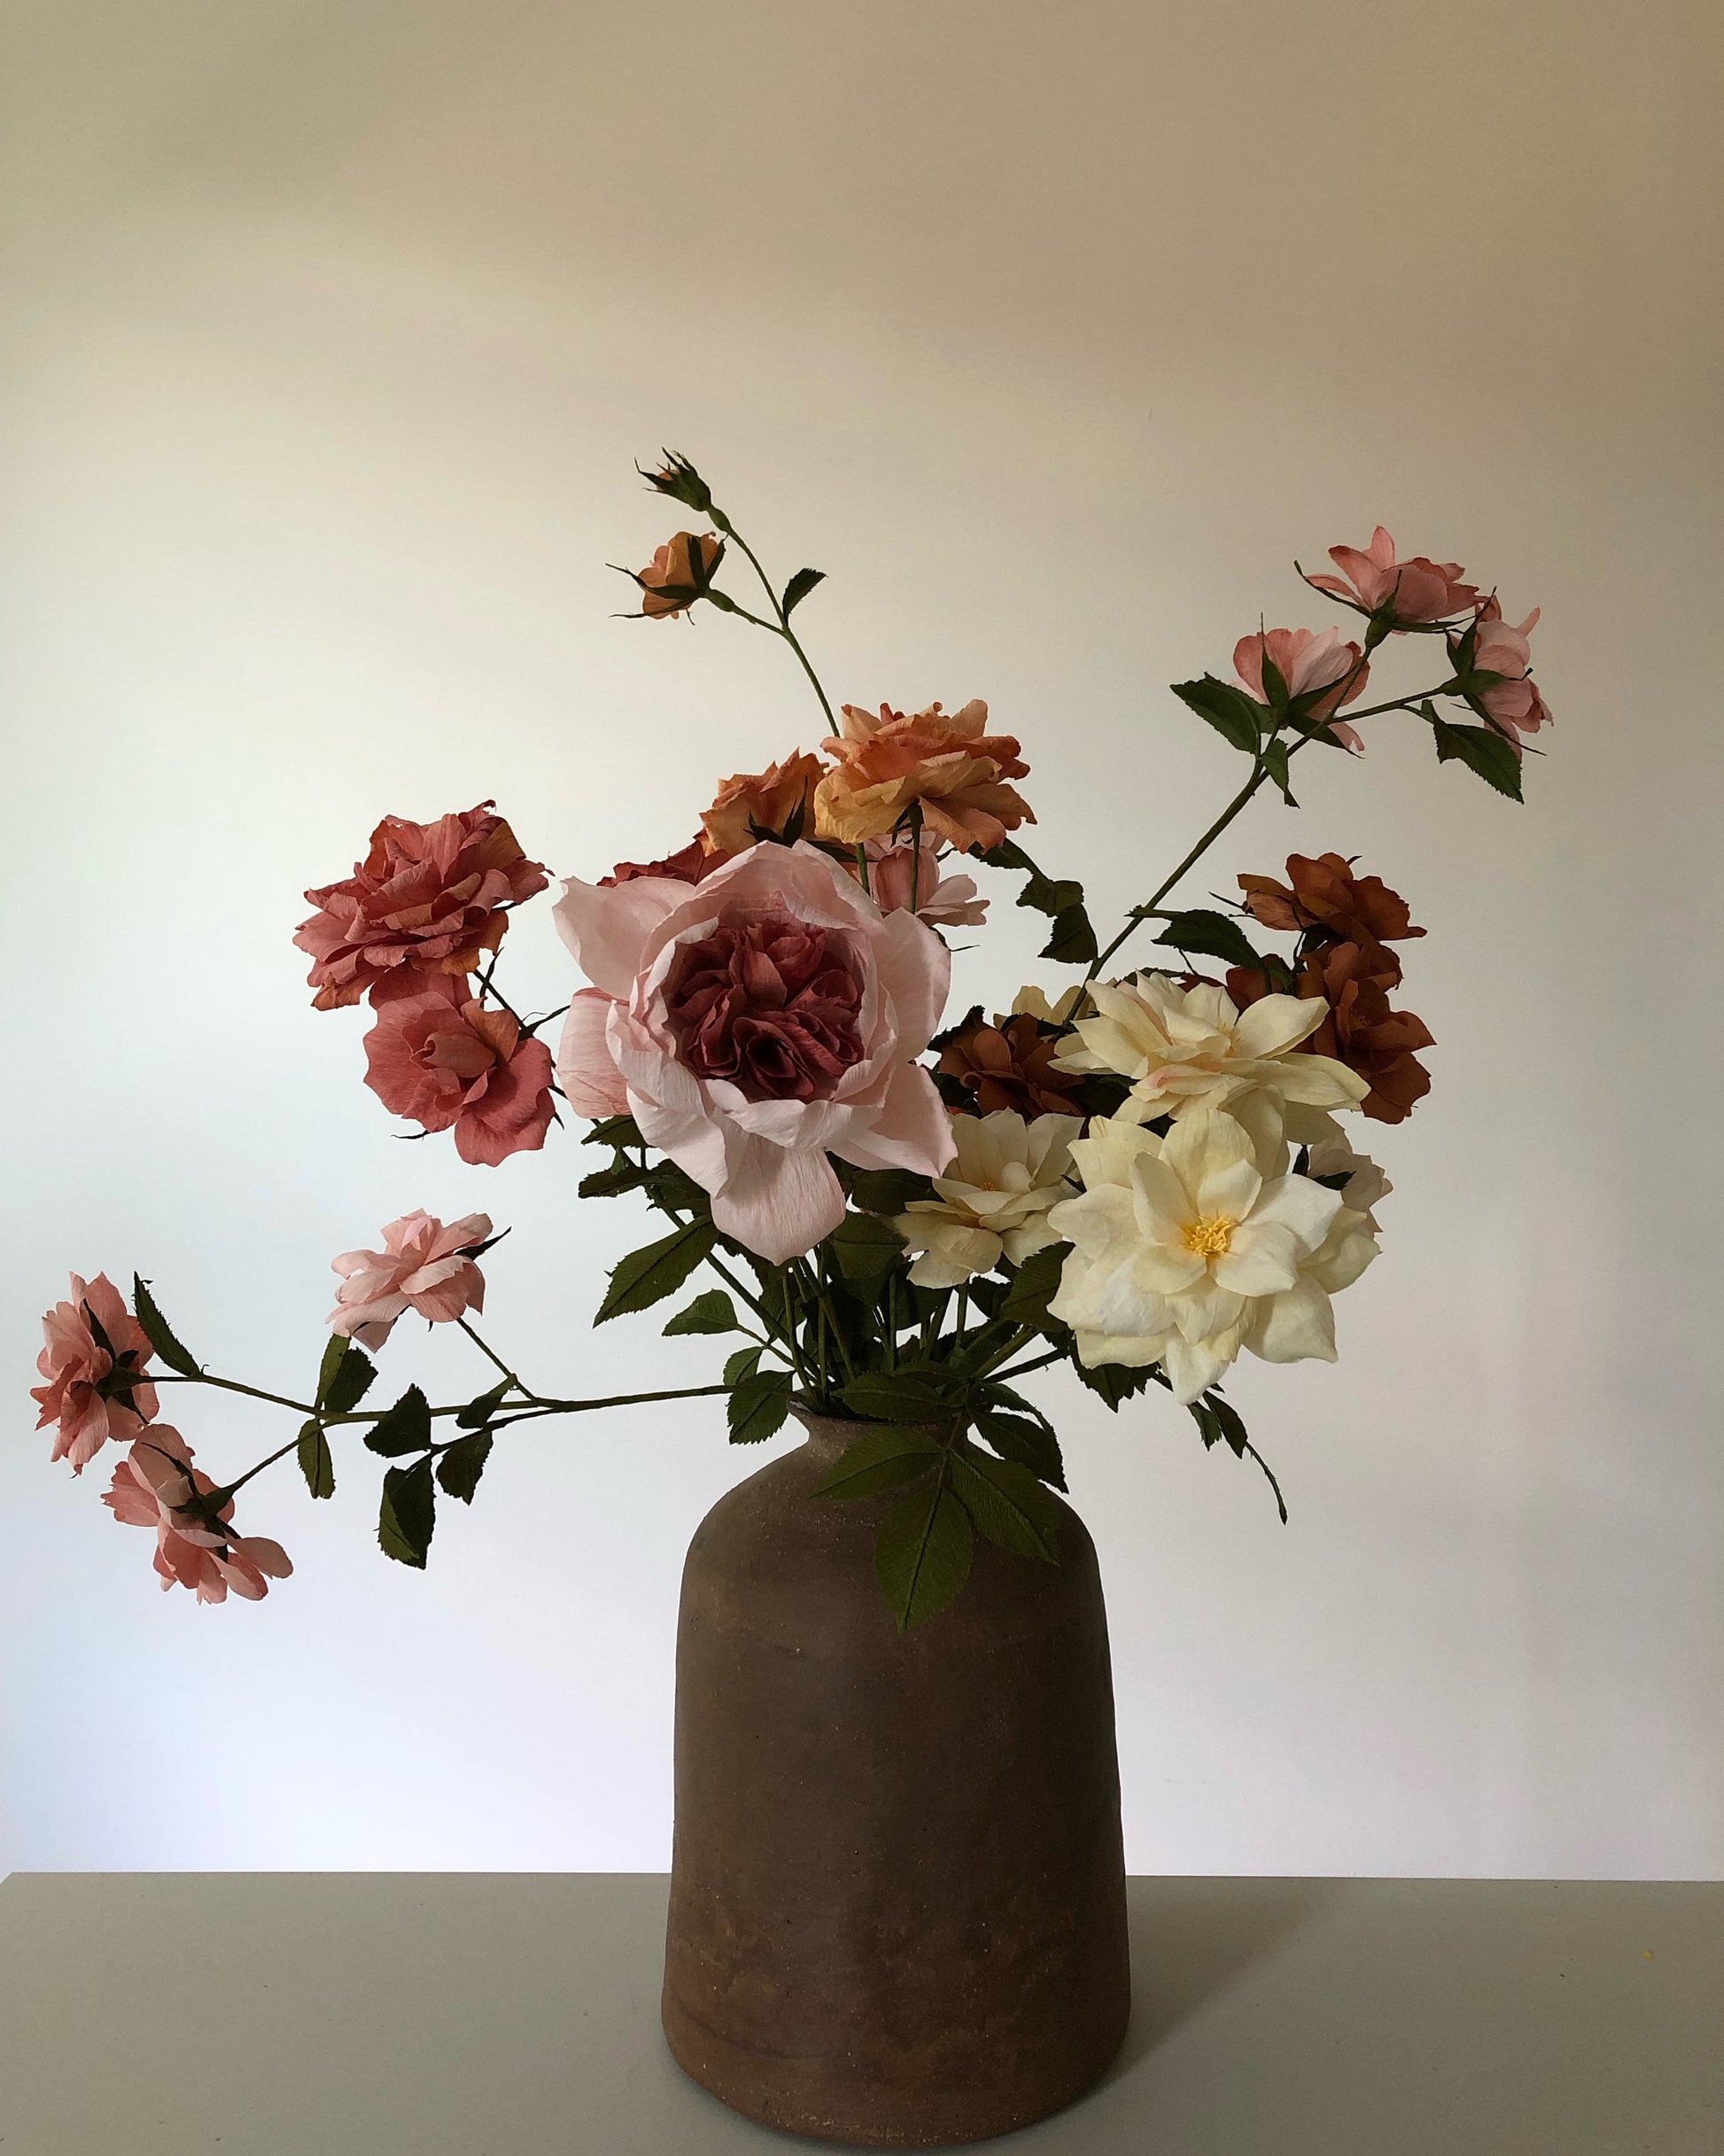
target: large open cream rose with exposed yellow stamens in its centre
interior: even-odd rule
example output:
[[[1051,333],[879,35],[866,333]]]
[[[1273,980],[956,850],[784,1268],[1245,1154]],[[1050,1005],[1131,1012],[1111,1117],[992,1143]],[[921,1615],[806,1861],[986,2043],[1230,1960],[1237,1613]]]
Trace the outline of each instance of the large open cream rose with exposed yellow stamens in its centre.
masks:
[[[1213,1108],[1166,1138],[1097,1121],[1071,1147],[1084,1194],[1047,1216],[1073,1244],[1049,1311],[1086,1367],[1159,1363],[1190,1406],[1241,1348],[1267,1363],[1334,1363],[1330,1296],[1377,1244],[1338,1190],[1265,1177],[1254,1151],[1246,1125]]]

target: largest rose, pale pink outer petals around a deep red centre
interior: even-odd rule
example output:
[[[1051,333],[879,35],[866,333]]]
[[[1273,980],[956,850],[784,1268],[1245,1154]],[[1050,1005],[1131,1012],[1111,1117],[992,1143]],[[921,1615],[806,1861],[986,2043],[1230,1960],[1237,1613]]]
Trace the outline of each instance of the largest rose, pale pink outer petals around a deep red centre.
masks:
[[[754,845],[694,888],[571,880],[556,925],[595,983],[562,1026],[569,1104],[627,1108],[761,1257],[812,1250],[843,1218],[828,1153],[922,1175],[953,1158],[916,1067],[950,955],[819,847]]]

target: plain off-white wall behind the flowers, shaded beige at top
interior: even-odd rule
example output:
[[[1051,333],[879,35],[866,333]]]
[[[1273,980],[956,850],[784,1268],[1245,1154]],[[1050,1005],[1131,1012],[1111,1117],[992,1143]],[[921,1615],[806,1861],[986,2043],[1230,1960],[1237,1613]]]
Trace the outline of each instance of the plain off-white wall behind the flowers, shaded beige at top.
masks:
[[[543,1384],[707,1373],[588,1330],[636,1222],[567,1141],[394,1141],[289,942],[384,811],[496,793],[590,875],[812,742],[765,638],[610,619],[670,442],[832,573],[843,694],[991,701],[1101,916],[1235,783],[1164,683],[1325,619],[1293,554],[1384,517],[1545,608],[1526,808],[1379,727],[1194,880],[1336,845],[1431,929],[1435,1091],[1377,1134],[1343,1360],[1237,1380],[1293,1524],[1179,1410],[1045,1397],[1136,1867],[1720,1871],[1718,13],[9,19],[0,1861],[666,1861],[681,1550],[756,1464],[715,1410],[509,1440],[425,1576],[375,1552],[375,1462],[317,1509],[287,1470],[248,1520],[295,1578],[205,1611],[24,1395],[73,1266],[293,1388],[330,1255],[416,1203],[515,1225],[491,1330]],[[1032,949],[1004,912],[978,996]],[[543,906],[511,964],[562,1000]],[[183,1421],[218,1466],[287,1434]]]

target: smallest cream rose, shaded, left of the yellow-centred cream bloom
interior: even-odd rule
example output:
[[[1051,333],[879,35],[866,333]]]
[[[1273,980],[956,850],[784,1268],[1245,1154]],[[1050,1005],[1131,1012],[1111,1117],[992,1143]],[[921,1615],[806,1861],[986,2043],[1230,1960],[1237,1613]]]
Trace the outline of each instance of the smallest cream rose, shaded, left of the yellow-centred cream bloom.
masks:
[[[1021,1266],[1032,1250],[1060,1238],[1047,1212],[1071,1192],[1071,1141],[1082,1115],[1039,1115],[1026,1123],[1013,1108],[953,1117],[957,1160],[933,1179],[937,1199],[912,1199],[892,1222],[909,1250],[918,1287],[961,1287],[993,1272],[1002,1257]]]

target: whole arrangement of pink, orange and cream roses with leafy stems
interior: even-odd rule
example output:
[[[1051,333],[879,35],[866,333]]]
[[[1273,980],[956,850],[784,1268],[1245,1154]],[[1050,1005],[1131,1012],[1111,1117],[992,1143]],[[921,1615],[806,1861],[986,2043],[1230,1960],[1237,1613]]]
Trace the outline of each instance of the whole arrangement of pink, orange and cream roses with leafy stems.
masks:
[[[1537,612],[1511,627],[1459,563],[1401,558],[1381,526],[1368,548],[1332,548],[1334,571],[1306,584],[1358,617],[1355,638],[1259,630],[1233,679],[1174,683],[1246,776],[1103,944],[1082,884],[1021,843],[1030,765],[987,705],[834,711],[793,619],[821,573],[780,589],[687,459],[642,476],[709,528],[625,571],[640,619],[709,608],[776,636],[819,701],[821,752],[726,778],[672,854],[569,877],[552,916],[584,983],[545,1018],[498,983],[511,918],[547,875],[491,802],[384,817],[349,877],[306,893],[295,942],[319,1011],[369,1007],[371,1091],[418,1132],[448,1132],[465,1162],[590,1123],[580,1143],[599,1164],[580,1194],[636,1197],[664,1227],[614,1268],[595,1324],[694,1285],[664,1332],[737,1339],[722,1378],[621,1399],[534,1391],[474,1324],[489,1216],[416,1212],[381,1250],[334,1259],[310,1397],[213,1376],[142,1279],[127,1307],[106,1276],[73,1276],[43,1319],[34,1393],[54,1457],[82,1473],[108,1440],[127,1445],[106,1503],[155,1529],[164,1587],[222,1602],[291,1572],[276,1542],[235,1533],[239,1490],[293,1455],[310,1494],[332,1496],[353,1432],[386,1462],[384,1552],[422,1567],[440,1494],[472,1503],[519,1423],[724,1395],[731,1440],[759,1445],[793,1410],[838,1416],[856,1436],[821,1494],[894,1496],[877,1572],[912,1626],[959,1593],[976,1535],[1058,1561],[1060,1445],[1019,1386],[1062,1363],[1112,1410],[1168,1395],[1205,1447],[1263,1466],[1284,1520],[1224,1382],[1243,1352],[1336,1356],[1334,1296],[1377,1257],[1390,1190],[1340,1117],[1399,1123],[1429,1089],[1431,1033],[1392,1000],[1399,951],[1424,929],[1338,852],[1239,875],[1237,906],[1170,899],[1263,787],[1297,806],[1295,757],[1362,755],[1368,718],[1412,718],[1437,761],[1519,800],[1526,737],[1549,720],[1530,675]],[[733,550],[759,610],[718,584]],[[1440,679],[1362,705],[1377,653],[1420,640]],[[983,875],[1047,916],[1041,955],[1069,972],[953,1024],[946,936],[985,923]],[[1123,972],[1144,934],[1151,964]],[[409,1311],[459,1326],[493,1382],[440,1406],[407,1384],[366,1406]],[[159,1421],[172,1384],[276,1401],[300,1427],[213,1483]]]

